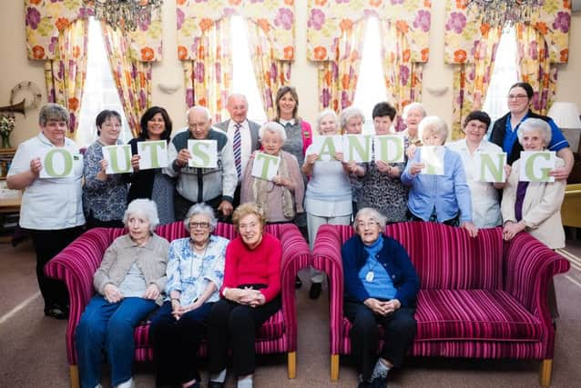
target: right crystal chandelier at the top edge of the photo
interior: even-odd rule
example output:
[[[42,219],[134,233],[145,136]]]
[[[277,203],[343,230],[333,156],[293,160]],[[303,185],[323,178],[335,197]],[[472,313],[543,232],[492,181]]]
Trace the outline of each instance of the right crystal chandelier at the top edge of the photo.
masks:
[[[482,23],[509,27],[515,23],[530,23],[535,8],[545,0],[466,0],[468,9],[482,17]]]

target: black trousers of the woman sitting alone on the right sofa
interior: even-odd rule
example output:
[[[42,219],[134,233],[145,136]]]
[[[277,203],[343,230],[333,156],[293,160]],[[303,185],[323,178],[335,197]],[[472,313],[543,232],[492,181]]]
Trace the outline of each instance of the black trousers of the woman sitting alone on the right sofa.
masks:
[[[357,363],[357,370],[362,373],[363,380],[371,381],[373,368],[378,359],[379,328],[383,326],[385,336],[382,338],[382,358],[394,366],[401,366],[403,357],[412,346],[417,330],[413,318],[414,308],[402,307],[387,315],[376,315],[365,304],[345,301],[344,313],[352,323],[349,336],[352,343],[352,358]]]

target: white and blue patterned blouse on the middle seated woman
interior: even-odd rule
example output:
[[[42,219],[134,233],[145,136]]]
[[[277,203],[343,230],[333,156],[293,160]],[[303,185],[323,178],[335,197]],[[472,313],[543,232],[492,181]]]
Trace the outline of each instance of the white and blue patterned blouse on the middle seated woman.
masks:
[[[189,237],[179,238],[169,244],[168,284],[166,294],[179,291],[180,304],[188,305],[208,287],[209,282],[216,284],[216,291],[208,302],[217,302],[219,289],[224,281],[224,258],[229,240],[217,235],[210,235],[209,243],[203,254],[197,254],[189,244]]]

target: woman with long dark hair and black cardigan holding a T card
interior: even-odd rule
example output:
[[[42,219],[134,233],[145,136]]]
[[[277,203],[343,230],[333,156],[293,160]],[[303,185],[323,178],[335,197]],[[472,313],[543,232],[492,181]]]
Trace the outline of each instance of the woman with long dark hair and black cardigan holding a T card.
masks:
[[[141,133],[135,139],[129,140],[131,145],[131,166],[133,173],[129,174],[129,194],[127,202],[136,198],[148,198],[158,205],[159,223],[170,224],[176,220],[174,216],[174,190],[176,184],[167,174],[162,174],[161,168],[139,170],[138,143],[163,140],[169,144],[171,135],[171,119],[168,111],[159,106],[150,107],[141,116]]]

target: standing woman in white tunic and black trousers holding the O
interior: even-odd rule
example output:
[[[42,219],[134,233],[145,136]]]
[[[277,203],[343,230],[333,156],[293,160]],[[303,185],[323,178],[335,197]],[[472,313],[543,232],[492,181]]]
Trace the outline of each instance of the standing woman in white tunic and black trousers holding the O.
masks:
[[[38,115],[40,133],[18,146],[6,178],[9,189],[24,190],[20,227],[29,231],[35,245],[36,279],[45,300],[45,315],[56,319],[68,317],[68,293],[63,282],[46,276],[44,267],[83,233],[85,224],[81,200],[83,156],[75,142],[66,137],[68,124],[65,107],[43,106]],[[44,156],[59,149],[72,156],[70,174],[41,177],[46,168]]]

